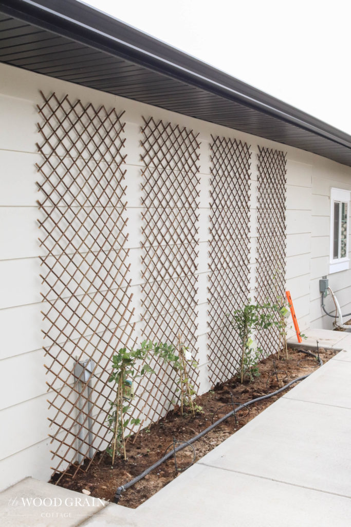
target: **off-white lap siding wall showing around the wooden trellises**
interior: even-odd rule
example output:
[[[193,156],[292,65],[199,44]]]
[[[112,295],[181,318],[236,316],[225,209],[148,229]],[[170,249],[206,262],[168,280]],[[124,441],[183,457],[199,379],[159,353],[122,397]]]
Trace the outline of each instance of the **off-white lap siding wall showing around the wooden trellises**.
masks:
[[[127,154],[126,201],[128,247],[137,331],[141,324],[141,125],[142,115],[187,126],[199,132],[200,196],[198,274],[198,348],[200,392],[209,389],[207,377],[207,276],[209,229],[209,143],[211,134],[247,142],[252,150],[252,222],[250,288],[255,293],[257,145],[287,152],[287,287],[292,293],[302,331],[331,327],[319,306],[318,279],[329,266],[330,187],[351,189],[351,169],[308,152],[286,147],[223,126],[188,118],[122,97],[0,65],[0,489],[31,475],[47,480],[51,454],[47,416],[47,385],[41,333],[41,272],[38,256],[40,199],[35,163],[41,159],[36,104],[39,90],[58,97],[69,94],[106,108],[125,110]],[[350,272],[330,277],[343,308],[351,310]]]

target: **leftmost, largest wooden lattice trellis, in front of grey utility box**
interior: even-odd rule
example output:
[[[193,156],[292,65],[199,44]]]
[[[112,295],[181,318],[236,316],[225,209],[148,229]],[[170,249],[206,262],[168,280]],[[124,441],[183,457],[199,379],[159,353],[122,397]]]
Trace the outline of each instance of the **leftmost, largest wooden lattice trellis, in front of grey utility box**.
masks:
[[[106,447],[114,350],[133,345],[122,113],[55,93],[38,105],[43,315],[53,470]],[[73,375],[77,361],[92,359]],[[79,399],[79,394],[82,397]],[[90,450],[89,450],[89,447]]]

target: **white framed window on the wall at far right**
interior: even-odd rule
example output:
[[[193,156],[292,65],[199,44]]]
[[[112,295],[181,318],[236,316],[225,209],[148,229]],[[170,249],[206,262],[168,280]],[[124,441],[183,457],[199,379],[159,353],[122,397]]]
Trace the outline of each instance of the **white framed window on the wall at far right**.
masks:
[[[350,191],[330,190],[330,265],[329,273],[349,268],[348,218]]]

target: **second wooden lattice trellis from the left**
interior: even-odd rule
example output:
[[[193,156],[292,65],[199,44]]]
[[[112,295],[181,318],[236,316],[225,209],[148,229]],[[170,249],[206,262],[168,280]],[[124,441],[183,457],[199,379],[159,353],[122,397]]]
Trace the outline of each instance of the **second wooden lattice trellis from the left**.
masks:
[[[142,333],[176,344],[180,332],[196,359],[199,142],[192,130],[143,120]],[[177,386],[167,364],[152,366],[157,375],[137,392],[145,419],[155,422],[173,406]],[[190,375],[196,385],[194,368]]]

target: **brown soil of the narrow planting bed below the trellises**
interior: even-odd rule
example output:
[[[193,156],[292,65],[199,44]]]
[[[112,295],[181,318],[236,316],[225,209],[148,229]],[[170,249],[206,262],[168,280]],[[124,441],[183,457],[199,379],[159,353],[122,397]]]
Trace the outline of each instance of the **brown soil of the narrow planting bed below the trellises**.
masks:
[[[327,362],[337,352],[332,349],[320,348],[319,353],[323,362]],[[274,374],[273,361],[276,364],[278,381]],[[75,470],[75,467],[72,467],[58,484],[78,492],[87,489],[92,496],[113,501],[114,493],[119,485],[132,480],[158,461],[165,454],[167,448],[173,448],[174,437],[177,441],[189,440],[212,424],[213,419],[216,421],[219,417],[229,413],[232,409],[230,394],[233,394],[235,402],[245,403],[255,397],[274,392],[278,387],[288,383],[289,380],[311,373],[316,368],[317,364],[314,359],[308,359],[306,355],[294,350],[289,350],[288,360],[278,360],[277,354],[271,355],[259,364],[260,376],[252,383],[240,384],[234,377],[224,384],[217,385],[213,391],[197,397],[196,403],[203,407],[202,414],[195,417],[182,417],[179,412],[172,411],[158,423],[150,425],[149,428],[144,428],[136,438],[131,437],[127,444],[127,461],[118,458],[112,468],[111,458],[107,454],[99,453],[95,456],[87,473],[78,472],[72,479],[69,476],[69,472],[73,473]],[[229,417],[213,431],[196,441],[193,445],[196,451],[196,461],[242,428],[284,393],[286,392],[253,404],[249,407],[249,412],[248,408],[238,412],[237,421],[234,416]],[[194,452],[189,446],[179,452],[177,454],[178,469],[185,469],[192,463],[193,456]],[[178,472],[175,470],[174,459],[171,458],[143,480],[126,490],[122,494],[119,504],[136,508],[177,477],[178,474],[179,470]],[[52,482],[55,482],[55,479],[57,480],[57,477],[53,476]]]

